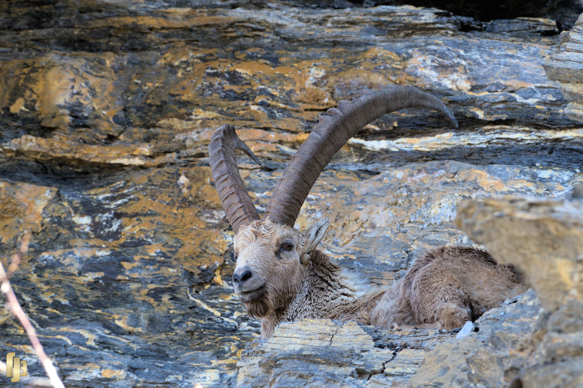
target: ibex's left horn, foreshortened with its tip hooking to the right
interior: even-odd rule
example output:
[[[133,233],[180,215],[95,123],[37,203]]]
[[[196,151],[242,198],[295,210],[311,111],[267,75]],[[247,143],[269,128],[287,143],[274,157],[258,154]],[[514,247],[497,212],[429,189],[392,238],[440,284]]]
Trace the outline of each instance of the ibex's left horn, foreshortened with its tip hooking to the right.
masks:
[[[255,163],[261,165],[257,156],[243,140],[239,139],[235,127],[223,124],[210,137],[209,159],[210,171],[215,179],[215,187],[223,203],[227,218],[237,232],[240,226],[259,220],[259,214],[251,202],[251,197],[245,189],[243,179],[239,175],[235,150],[240,149],[250,156]]]

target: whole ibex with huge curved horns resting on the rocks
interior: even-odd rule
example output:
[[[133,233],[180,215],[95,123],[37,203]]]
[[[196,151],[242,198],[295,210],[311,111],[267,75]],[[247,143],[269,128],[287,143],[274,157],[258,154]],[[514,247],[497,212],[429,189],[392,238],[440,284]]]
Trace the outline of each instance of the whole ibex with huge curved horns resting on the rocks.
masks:
[[[315,221],[304,234],[294,229],[308,192],[350,137],[382,115],[410,107],[440,112],[458,128],[438,98],[411,86],[365,90],[356,100],[339,101],[291,157],[262,219],[239,175],[234,150],[261,163],[233,126],[223,125],[213,134],[210,167],[235,232],[234,290],[248,315],[261,319],[262,337],[271,337],[279,322],[304,318],[356,320],[389,329],[454,329],[526,290],[511,266],[464,246],[426,252],[401,280],[373,287],[316,249],[328,218]]]

